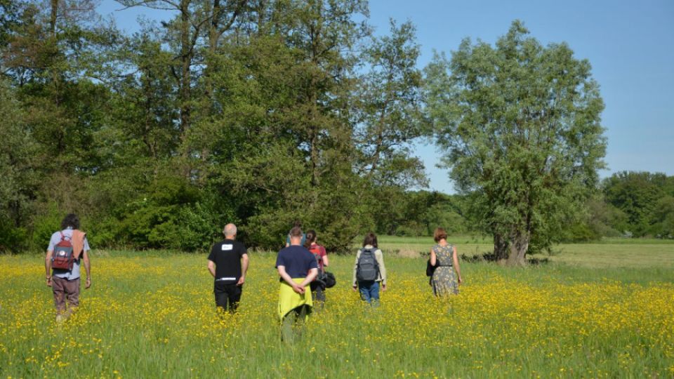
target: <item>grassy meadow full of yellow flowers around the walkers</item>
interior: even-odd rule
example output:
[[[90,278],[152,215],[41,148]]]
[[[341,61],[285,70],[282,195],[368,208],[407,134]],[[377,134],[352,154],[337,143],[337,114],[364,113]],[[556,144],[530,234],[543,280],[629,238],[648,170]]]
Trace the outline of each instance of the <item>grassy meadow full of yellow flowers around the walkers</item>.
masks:
[[[385,252],[386,253],[386,252]],[[370,309],[352,256],[303,340],[279,340],[275,255],[251,253],[239,314],[214,310],[206,255],[92,253],[93,284],[56,324],[44,258],[0,256],[1,378],[672,378],[672,267],[504,269],[463,263],[465,284],[432,297],[425,260],[387,256]]]

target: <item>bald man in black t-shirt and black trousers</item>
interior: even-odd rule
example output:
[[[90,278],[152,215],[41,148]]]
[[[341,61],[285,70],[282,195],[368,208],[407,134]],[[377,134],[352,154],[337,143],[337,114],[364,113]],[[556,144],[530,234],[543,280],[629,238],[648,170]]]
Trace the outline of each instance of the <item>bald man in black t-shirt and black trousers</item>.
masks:
[[[242,288],[248,271],[248,253],[246,246],[237,238],[237,225],[227,224],[223,230],[225,240],[211,248],[209,272],[213,275],[213,293],[216,295],[216,307],[224,312],[236,312],[241,300]]]

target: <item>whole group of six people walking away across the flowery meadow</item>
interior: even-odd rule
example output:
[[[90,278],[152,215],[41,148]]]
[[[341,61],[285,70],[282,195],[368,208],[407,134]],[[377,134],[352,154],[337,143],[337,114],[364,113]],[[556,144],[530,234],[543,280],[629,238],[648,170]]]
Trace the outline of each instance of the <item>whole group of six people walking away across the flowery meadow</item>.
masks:
[[[52,235],[45,258],[46,281],[53,290],[57,321],[67,319],[79,305],[82,263],[86,270],[85,288],[91,286],[90,248],[86,233],[79,230],[77,215],[67,215],[61,229]],[[235,313],[246,282],[249,256],[246,246],[236,239],[236,225],[225,225],[223,235],[223,241],[213,244],[207,267],[213,276],[218,312]],[[457,294],[462,279],[456,246],[447,242],[447,233],[442,228],[435,230],[434,239],[436,244],[430,250],[429,259],[433,269],[430,274],[432,291],[436,296]],[[277,254],[275,265],[279,274],[277,315],[282,340],[292,342],[298,338],[301,326],[313,308],[324,306],[325,290],[330,286],[331,277],[325,270],[328,266],[326,249],[317,243],[316,232],[308,230],[304,233],[300,222],[296,222],[286,237],[286,247]],[[377,236],[368,233],[356,253],[352,289],[359,292],[362,300],[377,307],[380,292],[388,288],[386,278],[384,256],[378,247]]]

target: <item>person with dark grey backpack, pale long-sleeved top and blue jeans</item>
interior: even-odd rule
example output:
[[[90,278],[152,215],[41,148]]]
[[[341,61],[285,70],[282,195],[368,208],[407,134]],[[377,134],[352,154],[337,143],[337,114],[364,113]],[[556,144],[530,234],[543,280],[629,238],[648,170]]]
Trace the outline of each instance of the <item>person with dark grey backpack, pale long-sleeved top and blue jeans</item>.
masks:
[[[353,291],[359,291],[362,300],[373,307],[379,305],[380,284],[381,291],[386,291],[386,267],[374,233],[366,234],[363,247],[356,253],[352,283]]]

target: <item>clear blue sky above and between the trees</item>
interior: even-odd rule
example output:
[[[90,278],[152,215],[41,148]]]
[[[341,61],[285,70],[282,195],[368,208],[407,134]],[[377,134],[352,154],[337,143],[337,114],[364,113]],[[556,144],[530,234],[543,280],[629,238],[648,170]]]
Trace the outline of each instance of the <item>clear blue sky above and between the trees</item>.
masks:
[[[104,0],[100,13],[121,8]],[[161,19],[136,8],[115,12],[119,27],[137,28],[136,17]],[[608,138],[605,161],[616,171],[674,175],[674,1],[431,1],[371,0],[370,23],[388,33],[388,20],[411,20],[421,44],[418,66],[432,51],[449,54],[465,37],[489,43],[505,34],[510,22],[524,21],[543,44],[566,41],[576,58],[588,59],[601,86],[606,108],[602,124]],[[447,171],[435,168],[438,152],[420,146],[430,188],[453,193]]]

